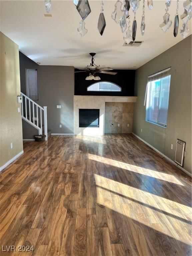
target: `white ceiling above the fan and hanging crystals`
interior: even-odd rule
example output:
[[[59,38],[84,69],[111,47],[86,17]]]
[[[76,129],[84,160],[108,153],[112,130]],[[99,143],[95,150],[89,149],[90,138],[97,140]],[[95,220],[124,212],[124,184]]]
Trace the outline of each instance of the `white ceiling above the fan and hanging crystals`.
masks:
[[[169,49],[183,37],[178,32],[173,36],[173,24],[164,33],[159,24],[165,13],[165,0],[153,0],[153,9],[145,1],[145,35],[140,32],[142,1],[136,13],[137,41],[140,47],[123,47],[123,36],[119,24],[111,18],[116,1],[104,0],[106,28],[101,36],[97,29],[101,1],[90,0],[91,13],[85,20],[88,33],[82,38],[77,33],[81,17],[72,0],[52,0],[52,17],[44,17],[44,1],[6,1],[1,4],[1,32],[19,45],[19,50],[40,65],[64,65],[83,68],[90,63],[89,52],[96,52],[95,63],[113,69],[137,69],[160,53]],[[123,2],[123,1],[122,1]],[[183,2],[179,1],[179,17],[183,13]],[[174,22],[176,0],[171,1],[170,19]],[[131,13],[131,26],[133,12]],[[179,20],[179,30],[182,22]],[[191,33],[191,22],[189,22]]]

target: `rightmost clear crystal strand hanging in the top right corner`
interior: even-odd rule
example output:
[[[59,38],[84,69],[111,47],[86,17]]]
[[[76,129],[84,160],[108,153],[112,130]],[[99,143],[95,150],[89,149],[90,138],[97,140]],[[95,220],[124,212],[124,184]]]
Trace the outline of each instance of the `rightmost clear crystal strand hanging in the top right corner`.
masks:
[[[183,26],[180,30],[180,34],[183,37],[186,37],[189,34],[189,29],[188,29],[188,22],[192,17],[192,2],[191,0],[187,0],[183,3],[184,7],[184,13],[181,15],[181,20],[183,21]]]

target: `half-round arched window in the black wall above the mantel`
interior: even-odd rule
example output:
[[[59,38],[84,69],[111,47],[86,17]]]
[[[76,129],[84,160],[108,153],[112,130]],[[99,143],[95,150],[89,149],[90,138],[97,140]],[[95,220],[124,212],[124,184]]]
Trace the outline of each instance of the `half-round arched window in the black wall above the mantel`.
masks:
[[[111,82],[97,82],[88,86],[87,91],[121,92],[121,87]]]

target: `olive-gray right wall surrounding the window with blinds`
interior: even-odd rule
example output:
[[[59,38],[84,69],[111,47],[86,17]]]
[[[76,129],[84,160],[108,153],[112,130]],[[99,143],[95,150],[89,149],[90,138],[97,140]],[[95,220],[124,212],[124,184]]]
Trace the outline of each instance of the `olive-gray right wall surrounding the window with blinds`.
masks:
[[[191,36],[136,70],[133,133],[174,161],[176,140],[186,142],[184,168],[191,173]],[[145,121],[147,77],[171,67],[167,128]],[[142,128],[142,132],[141,132]],[[171,149],[173,144],[173,149]]]

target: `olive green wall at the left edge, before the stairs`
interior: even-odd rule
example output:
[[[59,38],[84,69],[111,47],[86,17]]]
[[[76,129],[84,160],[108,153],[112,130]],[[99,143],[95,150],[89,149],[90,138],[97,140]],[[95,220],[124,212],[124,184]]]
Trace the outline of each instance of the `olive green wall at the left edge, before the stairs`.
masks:
[[[0,169],[23,151],[18,45],[0,32]],[[11,149],[11,143],[13,148]]]

